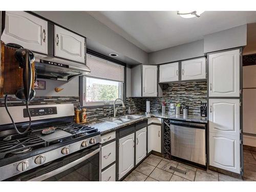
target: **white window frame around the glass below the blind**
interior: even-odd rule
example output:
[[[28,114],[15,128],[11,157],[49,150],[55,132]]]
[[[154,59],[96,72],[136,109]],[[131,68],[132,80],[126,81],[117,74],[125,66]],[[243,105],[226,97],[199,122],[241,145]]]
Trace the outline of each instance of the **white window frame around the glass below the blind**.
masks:
[[[86,93],[86,78],[94,78],[94,79],[100,79],[100,78],[95,78],[95,77],[87,77],[87,76],[84,76],[83,78],[85,78],[85,80],[83,81],[83,89],[84,89],[84,92]],[[102,79],[102,80],[108,80],[108,81],[111,81],[110,79]],[[123,82],[119,82],[119,97],[118,98],[121,98],[123,99]],[[86,97],[86,94],[85,94],[85,97]],[[102,105],[113,105],[114,104],[114,100],[113,101],[91,101],[91,102],[87,102],[86,101],[86,98],[85,98],[85,104],[84,106],[102,106]],[[120,100],[116,101],[116,104],[122,104],[122,102]]]

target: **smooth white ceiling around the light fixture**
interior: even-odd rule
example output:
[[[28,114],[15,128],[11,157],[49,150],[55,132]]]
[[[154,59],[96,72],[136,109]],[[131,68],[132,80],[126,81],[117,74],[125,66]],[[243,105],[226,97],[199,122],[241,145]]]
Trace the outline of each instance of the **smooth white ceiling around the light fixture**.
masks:
[[[256,22],[256,11],[205,11],[182,18],[176,11],[89,11],[145,52],[203,39],[206,34]]]

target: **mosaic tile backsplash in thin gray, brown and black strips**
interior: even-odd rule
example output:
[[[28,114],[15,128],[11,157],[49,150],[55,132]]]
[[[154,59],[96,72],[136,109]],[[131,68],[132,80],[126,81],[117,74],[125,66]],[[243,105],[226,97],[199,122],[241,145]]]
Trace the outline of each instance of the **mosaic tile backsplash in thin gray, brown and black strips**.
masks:
[[[117,115],[127,113],[129,106],[132,113],[145,112],[146,100],[151,102],[151,112],[161,112],[161,103],[166,101],[166,111],[175,112],[170,109],[170,103],[181,103],[181,106],[189,106],[189,114],[200,115],[201,101],[206,102],[207,98],[207,84],[206,81],[200,82],[182,82],[164,84],[163,96],[158,98],[142,98],[142,97],[128,97],[126,98],[125,109],[119,108]],[[30,105],[35,104],[56,104],[56,103],[73,103],[78,106],[79,97],[35,97],[30,101]],[[15,96],[8,97],[8,106],[11,105],[25,105],[25,102],[16,100]],[[0,106],[4,106],[4,99],[0,99]],[[182,114],[182,110],[181,110]],[[88,121],[113,116],[113,106],[97,106],[87,108]]]

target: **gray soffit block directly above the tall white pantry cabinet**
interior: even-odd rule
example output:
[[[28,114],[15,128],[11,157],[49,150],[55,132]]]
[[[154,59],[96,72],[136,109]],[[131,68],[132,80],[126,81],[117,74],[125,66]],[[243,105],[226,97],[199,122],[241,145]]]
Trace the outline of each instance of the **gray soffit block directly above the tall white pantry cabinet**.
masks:
[[[204,36],[204,53],[246,45],[247,25],[242,25]]]

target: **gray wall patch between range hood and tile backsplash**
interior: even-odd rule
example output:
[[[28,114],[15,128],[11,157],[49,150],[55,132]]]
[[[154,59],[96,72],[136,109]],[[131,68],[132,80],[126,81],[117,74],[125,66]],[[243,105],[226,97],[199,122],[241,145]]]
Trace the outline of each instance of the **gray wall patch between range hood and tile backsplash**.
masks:
[[[79,77],[75,77],[69,82],[51,79],[37,80],[46,81],[46,90],[35,90],[36,96],[79,97]],[[56,92],[55,88],[63,88],[63,90],[60,92]]]

